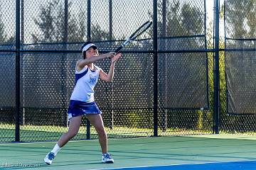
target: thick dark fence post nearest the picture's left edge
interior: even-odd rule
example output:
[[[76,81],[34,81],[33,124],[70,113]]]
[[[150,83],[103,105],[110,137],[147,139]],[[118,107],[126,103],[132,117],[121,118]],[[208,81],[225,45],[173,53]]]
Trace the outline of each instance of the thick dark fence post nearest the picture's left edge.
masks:
[[[20,57],[21,57],[21,30],[20,30],[20,19],[21,19],[21,12],[20,7],[21,2],[20,0],[16,0],[16,115],[15,115],[15,142],[20,142],[20,118],[21,118],[21,98],[20,98],[20,81],[21,81],[21,71],[20,71]]]

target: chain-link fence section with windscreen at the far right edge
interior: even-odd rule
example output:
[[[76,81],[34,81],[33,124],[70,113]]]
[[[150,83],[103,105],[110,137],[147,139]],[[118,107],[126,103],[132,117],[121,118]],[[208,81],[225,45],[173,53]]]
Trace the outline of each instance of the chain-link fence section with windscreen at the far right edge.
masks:
[[[223,109],[221,113],[220,128],[224,132],[254,135],[256,130],[256,2],[226,0],[223,11],[225,13],[225,92],[227,96],[224,102],[227,109]]]

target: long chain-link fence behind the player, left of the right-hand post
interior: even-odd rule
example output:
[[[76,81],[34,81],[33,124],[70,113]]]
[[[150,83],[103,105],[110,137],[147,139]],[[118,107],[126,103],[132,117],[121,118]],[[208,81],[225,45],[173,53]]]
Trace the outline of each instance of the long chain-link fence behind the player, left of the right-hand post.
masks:
[[[224,28],[214,24],[223,18],[215,17],[218,4],[212,3],[1,1],[0,142],[58,140],[68,130],[67,108],[82,44],[92,40],[100,52],[109,52],[149,19],[154,26],[122,50],[114,81],[99,81],[95,87],[109,137],[210,134],[219,120],[221,132],[253,134],[255,1],[225,1],[225,10],[220,1],[225,41]],[[234,6],[247,12],[235,16]],[[233,25],[236,18],[242,30]],[[220,50],[213,43],[216,29]],[[213,58],[222,50],[218,119],[213,110],[213,91],[218,91]],[[108,72],[109,60],[96,64]],[[83,118],[74,139],[88,138],[97,138],[97,133]]]

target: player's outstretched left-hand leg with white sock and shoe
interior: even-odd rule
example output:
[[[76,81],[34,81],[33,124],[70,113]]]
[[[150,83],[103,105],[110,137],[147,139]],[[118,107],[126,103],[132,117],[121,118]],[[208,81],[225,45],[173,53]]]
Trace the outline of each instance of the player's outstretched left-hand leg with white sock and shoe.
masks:
[[[46,164],[51,164],[53,162],[53,159],[56,157],[56,154],[59,152],[60,148],[63,147],[72,137],[78,134],[81,120],[82,115],[70,118],[68,132],[65,132],[60,137],[55,147],[53,147],[53,149],[46,155],[46,158],[43,159]]]

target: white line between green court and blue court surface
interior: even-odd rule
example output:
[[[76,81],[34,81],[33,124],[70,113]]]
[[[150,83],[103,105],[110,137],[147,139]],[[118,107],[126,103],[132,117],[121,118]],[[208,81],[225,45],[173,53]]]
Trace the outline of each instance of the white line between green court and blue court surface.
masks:
[[[130,167],[119,167],[111,169],[137,169],[137,168],[150,168],[150,167],[161,167],[161,166],[182,166],[182,165],[196,165],[196,164],[223,164],[223,163],[232,163],[232,162],[256,162],[256,159],[249,160],[240,160],[240,161],[226,161],[226,162],[198,162],[193,164],[169,164],[169,165],[151,165],[151,166],[130,166]],[[111,170],[110,169],[110,170]],[[88,170],[98,170],[98,169],[88,169]],[[109,170],[109,169],[100,169],[100,170]]]

